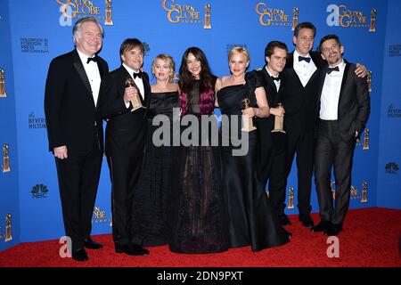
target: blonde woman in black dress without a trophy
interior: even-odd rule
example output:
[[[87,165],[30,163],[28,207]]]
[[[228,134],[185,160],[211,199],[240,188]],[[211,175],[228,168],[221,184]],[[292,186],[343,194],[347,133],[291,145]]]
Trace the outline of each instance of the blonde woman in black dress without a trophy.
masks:
[[[178,108],[178,85],[173,83],[174,70],[175,62],[168,54],[159,54],[151,65],[156,84],[151,85],[143,169],[135,189],[133,205],[134,239],[143,246],[168,243],[167,208],[172,147],[169,140],[161,143],[163,139],[168,139],[162,135],[153,138],[159,128],[159,125],[153,126],[153,122],[161,118],[163,123],[160,124],[166,124],[171,130],[173,108]]]

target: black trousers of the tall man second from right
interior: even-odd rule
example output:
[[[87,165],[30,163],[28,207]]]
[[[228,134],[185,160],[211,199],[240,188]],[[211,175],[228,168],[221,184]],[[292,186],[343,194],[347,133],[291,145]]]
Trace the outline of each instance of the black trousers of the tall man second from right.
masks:
[[[295,154],[297,154],[299,215],[308,215],[312,210],[310,194],[314,169],[313,132],[288,131],[287,178],[290,175]]]

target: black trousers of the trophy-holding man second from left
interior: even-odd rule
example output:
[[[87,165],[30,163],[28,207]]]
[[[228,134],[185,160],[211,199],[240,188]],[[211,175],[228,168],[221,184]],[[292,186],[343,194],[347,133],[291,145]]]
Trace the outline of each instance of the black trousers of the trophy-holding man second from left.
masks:
[[[139,155],[138,155],[139,153]],[[132,242],[133,199],[142,168],[143,151],[107,157],[111,180],[112,232],[114,243]]]

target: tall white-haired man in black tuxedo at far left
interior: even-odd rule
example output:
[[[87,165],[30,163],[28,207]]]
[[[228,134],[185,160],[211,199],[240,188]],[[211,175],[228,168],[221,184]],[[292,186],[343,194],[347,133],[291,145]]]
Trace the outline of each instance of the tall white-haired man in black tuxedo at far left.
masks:
[[[94,17],[76,22],[76,48],[50,63],[45,85],[49,151],[53,151],[66,235],[72,258],[86,261],[85,248],[102,248],[91,240],[91,218],[102,167],[102,118],[97,102],[107,62],[97,56],[103,29]]]

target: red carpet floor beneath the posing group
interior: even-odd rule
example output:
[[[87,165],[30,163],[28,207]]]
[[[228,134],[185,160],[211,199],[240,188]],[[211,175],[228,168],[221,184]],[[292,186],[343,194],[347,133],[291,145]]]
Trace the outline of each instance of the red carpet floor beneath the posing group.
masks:
[[[179,255],[168,246],[149,248],[149,256],[127,256],[114,253],[111,235],[94,236],[101,250],[87,250],[90,260],[78,263],[59,256],[58,240],[22,243],[0,252],[0,266],[19,267],[401,267],[401,210],[366,208],[350,210],[340,233],[340,257],[326,254],[331,244],[322,233],[310,232],[290,216],[291,242],[279,248],[252,253],[250,247],[230,249],[225,253]],[[315,223],[319,221],[313,215]]]

